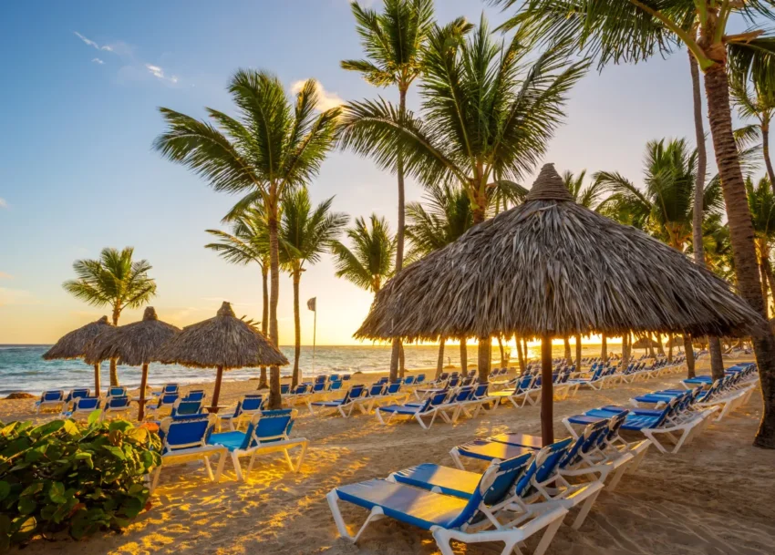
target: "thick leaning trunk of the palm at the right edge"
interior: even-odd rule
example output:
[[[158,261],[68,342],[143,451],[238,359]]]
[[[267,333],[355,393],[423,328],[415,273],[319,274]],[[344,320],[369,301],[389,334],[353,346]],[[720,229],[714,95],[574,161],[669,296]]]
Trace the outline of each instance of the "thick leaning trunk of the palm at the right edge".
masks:
[[[735,260],[735,274],[740,295],[759,313],[764,313],[764,300],[759,285],[756,250],[753,245],[753,223],[750,219],[745,183],[732,134],[732,113],[729,105],[729,83],[725,64],[714,64],[705,74],[708,97],[708,120],[716,165],[727,205],[729,237]],[[759,366],[764,413],[754,439],[757,447],[775,448],[775,338],[770,329],[753,337],[756,362]]]

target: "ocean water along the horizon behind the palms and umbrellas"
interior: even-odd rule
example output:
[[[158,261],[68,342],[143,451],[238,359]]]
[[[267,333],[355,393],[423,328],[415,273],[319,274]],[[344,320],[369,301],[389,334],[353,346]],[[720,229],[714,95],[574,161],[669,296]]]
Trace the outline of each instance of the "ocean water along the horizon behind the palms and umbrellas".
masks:
[[[46,361],[41,358],[50,345],[0,345],[0,397],[15,391],[25,391],[39,395],[46,389],[69,390],[73,387],[88,387],[94,383],[94,368],[81,360]],[[294,347],[281,348],[292,365],[281,368],[282,375],[290,375],[294,362]],[[530,357],[540,356],[538,346],[530,347]],[[439,347],[436,345],[406,345],[404,347],[408,370],[435,368]],[[563,346],[553,345],[554,356],[563,356]],[[600,354],[599,345],[584,345],[584,356]],[[511,355],[516,358],[516,350],[511,345]],[[469,345],[469,365],[476,364],[476,345]],[[500,364],[498,347],[492,349],[493,365]],[[449,345],[445,351],[445,364],[460,365],[460,350],[456,344]],[[512,360],[510,365],[516,365]],[[347,345],[318,346],[313,349],[303,346],[299,365],[303,376],[317,374],[336,374],[355,372],[387,372],[390,365],[390,345]],[[229,380],[248,380],[259,375],[258,368],[230,370],[225,378]],[[179,365],[151,364],[148,374],[150,385],[162,385],[168,382],[180,384],[209,382],[215,379],[214,369],[186,368]],[[140,386],[140,367],[119,366],[119,381],[128,387]],[[103,387],[109,384],[109,365],[102,365]]]

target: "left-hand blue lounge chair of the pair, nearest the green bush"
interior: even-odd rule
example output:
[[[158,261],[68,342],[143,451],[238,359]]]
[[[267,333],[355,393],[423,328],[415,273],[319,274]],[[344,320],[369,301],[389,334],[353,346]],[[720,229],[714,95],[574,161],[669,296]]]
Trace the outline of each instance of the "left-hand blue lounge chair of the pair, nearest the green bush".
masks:
[[[161,438],[161,466],[156,468],[151,481],[151,491],[159,484],[162,467],[183,464],[191,460],[202,460],[207,474],[213,482],[221,481],[223,465],[226,462],[228,450],[222,446],[209,445],[208,437],[216,423],[215,415],[167,417],[161,421],[159,437]],[[212,474],[210,457],[219,455],[218,467]]]

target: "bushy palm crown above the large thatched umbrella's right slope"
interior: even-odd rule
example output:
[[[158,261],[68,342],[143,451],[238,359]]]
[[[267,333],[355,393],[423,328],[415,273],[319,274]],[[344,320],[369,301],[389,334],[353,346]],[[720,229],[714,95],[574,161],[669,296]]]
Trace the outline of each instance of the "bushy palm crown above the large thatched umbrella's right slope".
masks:
[[[696,175],[697,150],[690,150],[685,139],[661,139],[646,144],[643,189],[615,172],[600,171],[594,177],[602,190],[611,193],[606,214],[624,212],[635,227],[677,247],[691,234]],[[720,181],[708,181],[703,213],[718,213],[723,206]]]

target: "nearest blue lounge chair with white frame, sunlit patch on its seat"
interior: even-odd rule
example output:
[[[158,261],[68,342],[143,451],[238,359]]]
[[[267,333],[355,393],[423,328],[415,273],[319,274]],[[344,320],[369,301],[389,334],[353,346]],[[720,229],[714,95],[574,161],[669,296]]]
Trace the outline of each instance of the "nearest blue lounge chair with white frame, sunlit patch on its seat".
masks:
[[[388,517],[419,529],[429,530],[442,555],[453,555],[451,541],[463,543],[502,542],[501,555],[511,554],[517,544],[545,530],[534,554],[543,555],[560,527],[566,509],[546,507],[545,512],[530,515],[530,519],[503,524],[492,519],[493,510],[511,499],[511,490],[522,476],[524,459],[517,458],[492,465],[471,488],[468,498],[460,498],[385,479],[372,479],[332,489],[327,495],[328,507],[342,538],[355,543],[377,519]],[[347,530],[339,502],[356,505],[369,515],[355,535]]]

